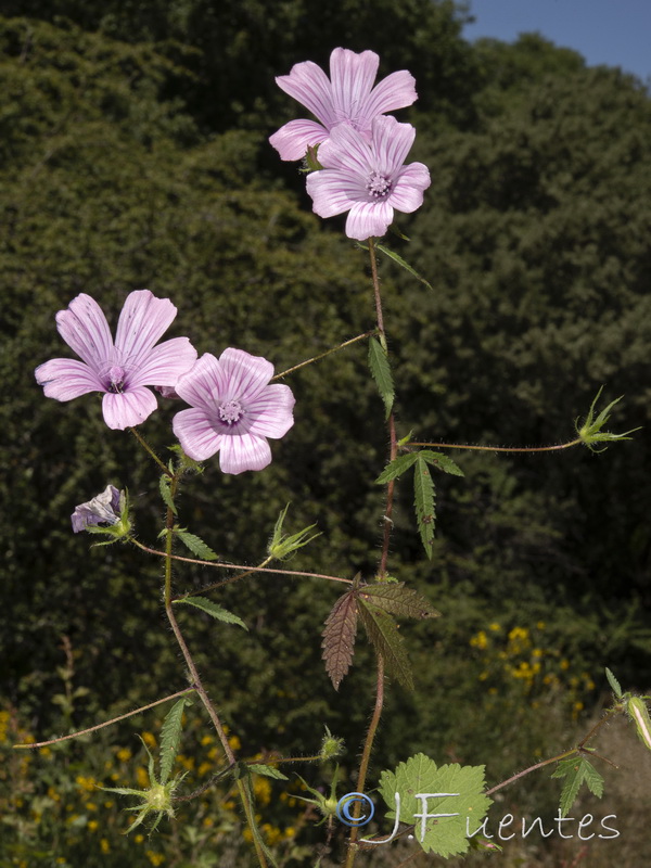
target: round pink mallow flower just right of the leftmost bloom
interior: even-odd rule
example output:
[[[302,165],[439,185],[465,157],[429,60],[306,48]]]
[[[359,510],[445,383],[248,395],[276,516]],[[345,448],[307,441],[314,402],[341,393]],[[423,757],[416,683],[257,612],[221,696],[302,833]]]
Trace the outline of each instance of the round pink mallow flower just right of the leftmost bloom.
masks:
[[[294,395],[272,383],[273,366],[260,356],[229,347],[216,359],[203,355],[176,384],[191,405],[173,421],[190,458],[204,461],[219,451],[224,473],[263,470],[271,461],[267,437],[282,437],[294,424]]]

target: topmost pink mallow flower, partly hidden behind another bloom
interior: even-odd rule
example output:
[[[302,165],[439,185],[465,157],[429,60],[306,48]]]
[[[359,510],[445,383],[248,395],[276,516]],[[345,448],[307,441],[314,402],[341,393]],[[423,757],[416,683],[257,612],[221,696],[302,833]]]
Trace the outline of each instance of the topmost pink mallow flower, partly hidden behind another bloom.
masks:
[[[311,61],[297,63],[290,75],[279,76],[277,85],[320,122],[290,120],[275,132],[269,141],[281,159],[301,159],[308,146],[326,141],[342,122],[368,137],[376,115],[411,105],[417,99],[413,76],[401,69],[373,87],[379,63],[373,51],[356,54],[347,48],[335,48],[330,55],[330,78]]]

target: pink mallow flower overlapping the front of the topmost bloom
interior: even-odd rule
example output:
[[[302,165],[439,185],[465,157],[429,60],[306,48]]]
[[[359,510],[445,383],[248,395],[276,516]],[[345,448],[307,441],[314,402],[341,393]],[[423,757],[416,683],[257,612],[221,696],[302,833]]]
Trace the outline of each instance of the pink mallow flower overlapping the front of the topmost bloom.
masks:
[[[319,148],[323,168],[307,176],[314,210],[320,217],[349,212],[348,238],[383,235],[394,208],[411,214],[423,204],[423,190],[431,183],[422,163],[403,165],[414,137],[411,124],[398,124],[395,117],[376,117],[370,142],[340,124]]]

